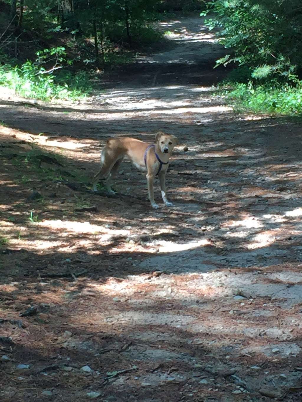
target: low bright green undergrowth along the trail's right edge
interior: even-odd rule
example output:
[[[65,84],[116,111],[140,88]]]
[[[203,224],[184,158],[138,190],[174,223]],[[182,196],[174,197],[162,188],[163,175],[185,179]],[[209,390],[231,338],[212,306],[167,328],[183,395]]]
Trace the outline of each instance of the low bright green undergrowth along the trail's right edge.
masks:
[[[237,83],[222,93],[235,111],[302,116],[302,81],[296,86],[277,82],[264,85]]]

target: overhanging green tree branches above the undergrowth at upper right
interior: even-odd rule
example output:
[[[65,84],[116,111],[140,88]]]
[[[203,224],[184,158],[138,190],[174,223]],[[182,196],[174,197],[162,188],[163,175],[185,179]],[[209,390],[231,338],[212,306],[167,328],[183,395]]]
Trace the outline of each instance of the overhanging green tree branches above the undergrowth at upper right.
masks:
[[[219,28],[220,43],[231,52],[217,65],[248,66],[257,80],[279,77],[296,82],[302,66],[302,8],[300,0],[213,0],[207,11],[210,29]]]

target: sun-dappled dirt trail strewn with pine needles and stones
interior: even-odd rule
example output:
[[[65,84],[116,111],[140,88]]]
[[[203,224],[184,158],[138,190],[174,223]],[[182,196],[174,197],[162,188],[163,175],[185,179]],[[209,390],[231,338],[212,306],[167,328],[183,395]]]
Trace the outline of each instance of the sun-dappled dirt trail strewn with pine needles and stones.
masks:
[[[5,163],[2,317],[33,304],[41,312],[23,318],[26,329],[0,322],[14,342],[2,347],[2,400],[41,400],[45,390],[54,401],[302,398],[300,124],[234,115],[213,96],[223,49],[201,20],[160,29],[173,49],[104,77],[107,89],[87,103],[24,105],[9,94],[0,103],[2,144],[33,137],[88,176],[108,136],[151,141],[161,130],[181,141],[167,176],[175,207],[156,211],[127,162],[113,199],[60,180],[16,182]],[[26,224],[16,205],[29,187],[48,201],[25,203],[43,218]]]

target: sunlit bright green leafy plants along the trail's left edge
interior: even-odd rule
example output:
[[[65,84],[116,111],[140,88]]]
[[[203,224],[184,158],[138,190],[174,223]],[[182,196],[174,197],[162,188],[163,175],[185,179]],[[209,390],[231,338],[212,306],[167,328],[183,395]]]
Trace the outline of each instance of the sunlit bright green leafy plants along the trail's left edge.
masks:
[[[85,72],[72,74],[64,71],[54,74],[54,71],[64,68],[64,64],[72,64],[72,61],[65,58],[64,47],[44,49],[36,55],[35,62],[27,60],[21,66],[0,66],[0,86],[12,88],[21,96],[41,100],[77,99],[91,90],[89,77]],[[46,69],[46,65],[51,67]]]

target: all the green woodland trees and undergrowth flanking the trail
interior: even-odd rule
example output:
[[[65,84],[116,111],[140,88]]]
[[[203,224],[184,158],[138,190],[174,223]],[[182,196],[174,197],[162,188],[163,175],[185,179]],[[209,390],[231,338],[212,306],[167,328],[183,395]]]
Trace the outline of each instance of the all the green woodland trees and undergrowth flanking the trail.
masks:
[[[218,28],[217,65],[235,109],[302,113],[300,0],[6,0],[0,3],[0,85],[43,100],[89,94],[96,72],[161,48],[152,23],[191,12]]]

